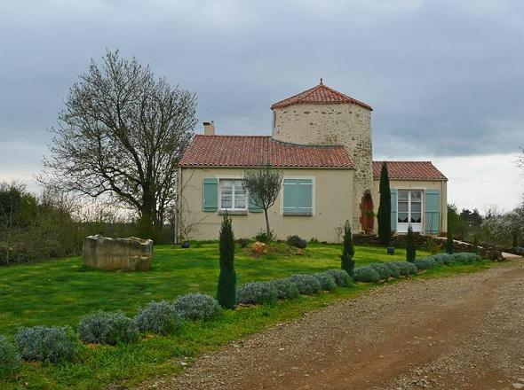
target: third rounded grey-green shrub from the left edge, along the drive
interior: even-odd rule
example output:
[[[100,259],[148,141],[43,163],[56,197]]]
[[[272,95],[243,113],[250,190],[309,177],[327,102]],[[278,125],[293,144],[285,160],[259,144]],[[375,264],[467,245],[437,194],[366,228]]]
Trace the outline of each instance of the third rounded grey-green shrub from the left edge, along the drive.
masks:
[[[78,324],[78,337],[85,343],[125,344],[140,338],[139,328],[123,312],[108,313],[99,310],[83,317]]]

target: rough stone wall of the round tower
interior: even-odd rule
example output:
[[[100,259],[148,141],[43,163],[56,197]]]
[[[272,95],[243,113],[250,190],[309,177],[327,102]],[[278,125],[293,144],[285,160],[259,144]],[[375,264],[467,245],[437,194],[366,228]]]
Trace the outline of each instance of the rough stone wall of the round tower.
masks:
[[[366,190],[373,193],[371,112],[353,104],[300,104],[276,108],[273,138],[292,144],[345,146],[355,167],[352,228],[354,232],[361,231],[361,198]]]

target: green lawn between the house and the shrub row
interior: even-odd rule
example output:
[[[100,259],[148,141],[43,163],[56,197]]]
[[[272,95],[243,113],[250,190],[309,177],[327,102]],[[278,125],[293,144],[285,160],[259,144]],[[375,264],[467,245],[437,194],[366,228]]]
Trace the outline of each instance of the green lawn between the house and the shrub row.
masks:
[[[311,244],[303,256],[254,259],[237,249],[238,283],[340,268],[341,251],[337,245]],[[359,246],[356,266],[405,260],[405,250],[397,252],[388,256],[383,248]],[[75,326],[98,309],[123,310],[131,316],[150,300],[173,300],[187,292],[214,296],[217,279],[217,243],[189,249],[155,246],[149,272],[83,269],[80,257],[0,268],[0,334],[12,336],[19,326]]]

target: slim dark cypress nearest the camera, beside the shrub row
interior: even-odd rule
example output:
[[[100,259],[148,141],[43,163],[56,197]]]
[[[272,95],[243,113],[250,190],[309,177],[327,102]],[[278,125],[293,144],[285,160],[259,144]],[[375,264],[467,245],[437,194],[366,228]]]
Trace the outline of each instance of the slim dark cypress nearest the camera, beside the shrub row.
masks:
[[[234,272],[234,233],[231,218],[224,215],[220,226],[220,276],[217,299],[223,308],[236,306],[236,274]]]

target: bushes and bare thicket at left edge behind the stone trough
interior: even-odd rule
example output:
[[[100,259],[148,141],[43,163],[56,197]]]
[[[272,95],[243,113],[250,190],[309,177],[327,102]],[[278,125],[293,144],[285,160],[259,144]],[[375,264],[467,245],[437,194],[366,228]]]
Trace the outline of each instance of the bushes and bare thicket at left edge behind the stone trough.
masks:
[[[82,253],[83,238],[136,236],[139,218],[103,204],[85,204],[59,191],[30,193],[21,183],[0,183],[0,265]],[[157,243],[172,242],[165,224]]]

